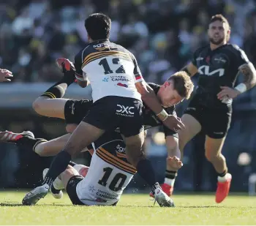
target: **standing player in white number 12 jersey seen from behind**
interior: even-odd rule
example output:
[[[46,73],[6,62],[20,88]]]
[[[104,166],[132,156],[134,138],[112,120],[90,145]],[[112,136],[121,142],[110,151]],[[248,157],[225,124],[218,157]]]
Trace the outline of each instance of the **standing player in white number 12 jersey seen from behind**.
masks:
[[[72,155],[89,146],[105,131],[119,127],[124,135],[128,161],[150,185],[159,206],[173,206],[173,201],[159,187],[150,161],[141,151],[144,132],[140,94],[165,124],[172,127],[174,122],[177,129],[184,125],[176,117],[167,115],[154,91],[146,87],[135,56],[108,40],[110,23],[110,18],[101,13],[86,19],[89,45],[75,57],[75,68],[80,86],[87,86],[90,81],[94,103],[72,132],[64,150],[53,159],[42,186],[24,197],[25,205],[34,205],[45,197],[56,177],[67,168]]]

